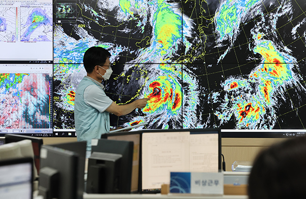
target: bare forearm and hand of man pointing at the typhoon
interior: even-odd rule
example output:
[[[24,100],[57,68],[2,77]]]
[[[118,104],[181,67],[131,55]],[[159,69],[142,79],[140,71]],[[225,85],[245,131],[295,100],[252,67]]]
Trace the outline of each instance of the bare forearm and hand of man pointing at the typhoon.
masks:
[[[126,105],[117,105],[113,102],[111,106],[106,109],[106,111],[117,116],[126,115],[131,113],[134,109],[144,108],[148,100],[149,98],[137,99],[136,101]]]

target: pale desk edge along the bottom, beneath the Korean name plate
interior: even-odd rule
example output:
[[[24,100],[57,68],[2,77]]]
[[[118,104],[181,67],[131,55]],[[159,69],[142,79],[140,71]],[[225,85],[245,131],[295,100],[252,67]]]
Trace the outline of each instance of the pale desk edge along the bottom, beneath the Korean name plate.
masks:
[[[247,195],[162,195],[158,194],[87,194],[84,193],[83,199],[248,199]]]

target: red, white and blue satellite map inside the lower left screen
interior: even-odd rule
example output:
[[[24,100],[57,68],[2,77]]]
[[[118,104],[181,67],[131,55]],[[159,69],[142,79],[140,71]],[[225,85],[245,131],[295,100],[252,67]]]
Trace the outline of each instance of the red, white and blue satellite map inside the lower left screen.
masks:
[[[0,93],[0,129],[49,128],[48,74],[0,73]]]

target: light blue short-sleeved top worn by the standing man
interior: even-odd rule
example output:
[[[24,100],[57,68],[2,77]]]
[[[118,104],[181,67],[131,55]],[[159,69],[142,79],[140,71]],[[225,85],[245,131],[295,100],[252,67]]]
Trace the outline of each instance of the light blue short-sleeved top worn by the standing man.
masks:
[[[75,92],[74,125],[78,141],[87,141],[87,151],[91,151],[92,139],[109,133],[110,116],[105,110],[112,103],[102,84],[88,76],[83,78]]]

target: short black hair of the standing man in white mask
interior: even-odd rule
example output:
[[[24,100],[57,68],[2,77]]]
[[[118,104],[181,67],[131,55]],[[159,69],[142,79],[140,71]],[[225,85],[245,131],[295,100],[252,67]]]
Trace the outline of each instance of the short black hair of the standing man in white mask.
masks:
[[[103,47],[88,48],[83,57],[86,72],[91,73],[96,65],[103,65],[108,57],[110,58],[111,54]]]

